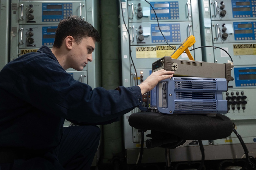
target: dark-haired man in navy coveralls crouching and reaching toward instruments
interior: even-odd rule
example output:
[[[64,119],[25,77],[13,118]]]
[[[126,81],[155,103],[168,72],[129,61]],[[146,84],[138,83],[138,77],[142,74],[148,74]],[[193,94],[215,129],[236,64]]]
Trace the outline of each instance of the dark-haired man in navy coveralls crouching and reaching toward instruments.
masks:
[[[116,121],[173,76],[159,70],[138,86],[92,90],[65,70],[83,70],[100,41],[91,24],[71,16],[59,23],[52,49],[42,46],[1,70],[1,170],[90,169],[100,138],[95,125]],[[63,128],[64,119],[83,126]]]

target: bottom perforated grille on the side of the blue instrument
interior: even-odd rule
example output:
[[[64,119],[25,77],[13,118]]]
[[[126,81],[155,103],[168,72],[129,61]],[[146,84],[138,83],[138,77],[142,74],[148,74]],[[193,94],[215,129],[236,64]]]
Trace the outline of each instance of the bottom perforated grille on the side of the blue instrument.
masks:
[[[216,102],[176,101],[174,110],[217,110]]]

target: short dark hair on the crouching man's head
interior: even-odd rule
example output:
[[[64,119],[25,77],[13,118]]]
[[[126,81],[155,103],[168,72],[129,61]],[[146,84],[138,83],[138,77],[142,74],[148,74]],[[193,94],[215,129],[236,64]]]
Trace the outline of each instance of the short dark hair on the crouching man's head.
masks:
[[[100,35],[92,24],[75,15],[60,21],[55,32],[53,47],[60,48],[64,39],[69,35],[72,36],[78,44],[83,38],[87,37],[92,37],[92,39],[98,43],[101,42]]]

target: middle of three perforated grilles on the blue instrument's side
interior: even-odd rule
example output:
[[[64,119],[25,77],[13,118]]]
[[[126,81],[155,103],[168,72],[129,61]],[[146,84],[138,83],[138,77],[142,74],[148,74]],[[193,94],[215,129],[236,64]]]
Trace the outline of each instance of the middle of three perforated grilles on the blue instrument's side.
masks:
[[[176,91],[176,99],[215,99],[215,92]]]

